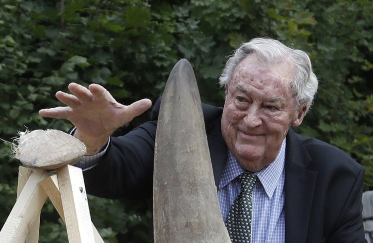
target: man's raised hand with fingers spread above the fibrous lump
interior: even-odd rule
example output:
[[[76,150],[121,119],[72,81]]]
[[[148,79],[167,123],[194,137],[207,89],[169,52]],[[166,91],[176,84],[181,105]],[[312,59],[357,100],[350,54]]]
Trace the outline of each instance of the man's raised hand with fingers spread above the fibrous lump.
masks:
[[[99,152],[115,129],[141,115],[152,105],[149,99],[122,105],[98,84],[86,88],[70,83],[68,88],[71,94],[62,91],[56,93],[57,99],[67,106],[42,109],[39,114],[65,118],[73,123],[77,128],[74,136],[87,146],[87,155]]]

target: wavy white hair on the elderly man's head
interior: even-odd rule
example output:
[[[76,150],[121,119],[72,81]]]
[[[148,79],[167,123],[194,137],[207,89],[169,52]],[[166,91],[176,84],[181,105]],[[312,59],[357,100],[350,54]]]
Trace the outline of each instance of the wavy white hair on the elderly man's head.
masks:
[[[313,103],[317,91],[318,80],[312,72],[312,65],[308,55],[301,51],[289,48],[280,41],[269,38],[254,38],[242,44],[228,59],[219,78],[220,86],[228,84],[237,65],[248,55],[256,54],[259,61],[265,64],[279,64],[288,61],[294,66],[295,74],[290,81],[290,87],[296,97],[298,108],[307,105],[306,112]]]

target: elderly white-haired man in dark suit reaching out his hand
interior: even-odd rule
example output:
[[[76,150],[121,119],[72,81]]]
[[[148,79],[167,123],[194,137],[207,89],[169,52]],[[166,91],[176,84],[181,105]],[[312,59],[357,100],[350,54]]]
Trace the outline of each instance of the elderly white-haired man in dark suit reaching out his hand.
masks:
[[[203,105],[203,112],[232,242],[365,242],[363,167],[290,128],[302,123],[317,90],[308,56],[279,41],[256,38],[230,57],[220,84],[226,89],[224,108]],[[74,136],[88,148],[78,164],[88,168],[87,191],[102,197],[151,197],[159,102],[151,121],[114,138],[112,132],[148,109],[150,100],[124,106],[97,84],[87,89],[71,83],[69,89],[72,94],[56,93],[68,107],[40,114],[75,125]],[[251,225],[241,226],[246,219]],[[247,240],[237,234],[240,227]]]

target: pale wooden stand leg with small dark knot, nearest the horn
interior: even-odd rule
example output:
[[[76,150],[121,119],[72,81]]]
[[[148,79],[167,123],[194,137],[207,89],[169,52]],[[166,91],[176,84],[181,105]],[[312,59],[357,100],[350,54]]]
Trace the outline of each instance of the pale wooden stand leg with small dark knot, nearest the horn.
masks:
[[[57,170],[69,243],[93,243],[92,225],[82,169],[65,165]]]

